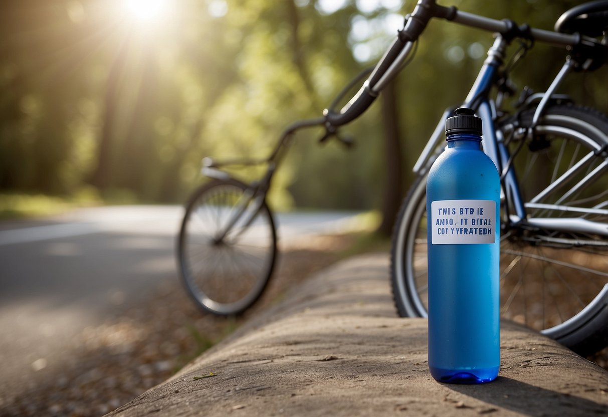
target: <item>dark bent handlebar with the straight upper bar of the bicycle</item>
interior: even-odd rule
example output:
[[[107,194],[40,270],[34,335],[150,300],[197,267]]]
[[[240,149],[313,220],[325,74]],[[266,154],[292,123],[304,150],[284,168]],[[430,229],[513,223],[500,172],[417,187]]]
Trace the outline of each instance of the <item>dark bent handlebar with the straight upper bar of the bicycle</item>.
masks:
[[[339,112],[325,109],[323,115],[328,126],[341,126],[359,117],[378,97],[384,86],[392,80],[401,69],[401,64],[407,58],[413,42],[418,40],[431,18],[443,18],[469,27],[499,32],[510,40],[513,38],[528,38],[559,46],[575,46],[581,43],[596,43],[592,38],[575,33],[551,32],[535,29],[527,25],[517,26],[510,20],[496,20],[472,13],[461,12],[456,7],[443,7],[436,0],[419,0],[411,15],[406,16],[406,24],[399,30],[396,40],[391,44],[381,60],[376,64],[370,77],[361,89],[351,98],[350,102]]]

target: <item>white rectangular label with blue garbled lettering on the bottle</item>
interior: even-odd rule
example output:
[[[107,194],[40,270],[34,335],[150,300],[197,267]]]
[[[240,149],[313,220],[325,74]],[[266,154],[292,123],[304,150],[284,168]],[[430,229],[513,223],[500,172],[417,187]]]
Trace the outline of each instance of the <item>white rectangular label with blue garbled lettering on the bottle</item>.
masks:
[[[438,200],[430,203],[430,243],[467,244],[496,241],[496,202]]]

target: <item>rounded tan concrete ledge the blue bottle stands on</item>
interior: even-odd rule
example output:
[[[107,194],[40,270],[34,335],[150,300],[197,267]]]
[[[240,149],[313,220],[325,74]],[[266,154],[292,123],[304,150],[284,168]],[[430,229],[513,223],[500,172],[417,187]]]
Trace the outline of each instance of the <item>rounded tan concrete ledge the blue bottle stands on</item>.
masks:
[[[608,372],[508,322],[496,381],[435,382],[426,320],[395,317],[388,273],[386,255],[328,269],[111,415],[608,415]]]

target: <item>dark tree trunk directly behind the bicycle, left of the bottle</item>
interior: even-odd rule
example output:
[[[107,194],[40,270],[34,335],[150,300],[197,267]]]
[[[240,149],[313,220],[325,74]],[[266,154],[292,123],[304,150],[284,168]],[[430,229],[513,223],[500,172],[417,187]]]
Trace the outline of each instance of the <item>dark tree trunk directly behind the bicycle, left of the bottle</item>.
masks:
[[[402,199],[403,167],[399,137],[399,112],[395,95],[395,81],[389,83],[381,94],[382,124],[384,125],[384,159],[386,181],[382,199],[382,223],[378,232],[390,236]]]

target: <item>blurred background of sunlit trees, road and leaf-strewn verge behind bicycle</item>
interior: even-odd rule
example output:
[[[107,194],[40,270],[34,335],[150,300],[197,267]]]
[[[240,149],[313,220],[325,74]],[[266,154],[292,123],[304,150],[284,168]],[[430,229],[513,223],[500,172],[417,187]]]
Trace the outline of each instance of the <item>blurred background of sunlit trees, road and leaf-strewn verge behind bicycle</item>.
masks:
[[[440,1],[548,30],[580,3]],[[381,57],[414,5],[4,0],[0,415],[102,415],[164,381],[295,282],[353,253],[388,252],[385,237],[360,244],[336,229],[306,243],[283,240],[268,294],[226,320],[202,315],[186,298],[173,244],[179,205],[203,181],[203,157],[268,156],[287,125],[319,117]],[[289,224],[294,210],[371,212],[366,233],[388,236],[413,163],[444,109],[465,97],[491,43],[489,33],[432,21],[412,63],[342,129],[356,140],[352,150],[317,145],[322,131],[299,133],[269,196],[279,223]],[[513,100],[525,85],[545,91],[565,58],[545,45],[529,55],[513,71]],[[607,75],[570,75],[560,92],[606,113]],[[237,174],[251,180],[260,171]],[[69,210],[116,204],[123,207]],[[302,219],[295,222],[311,221]]]

